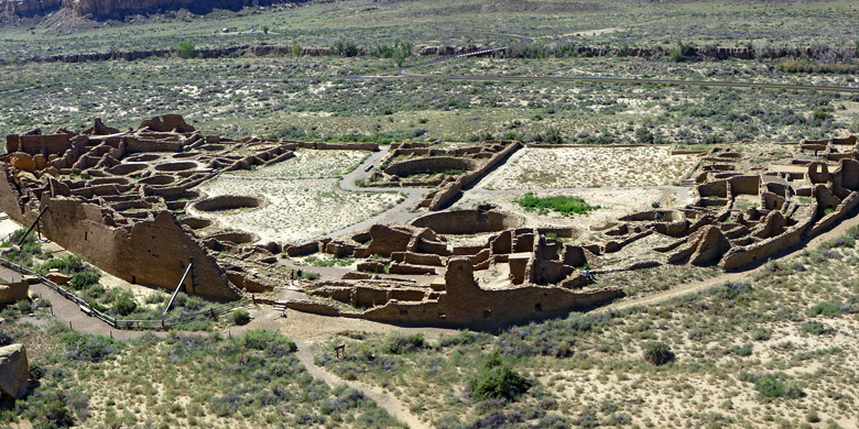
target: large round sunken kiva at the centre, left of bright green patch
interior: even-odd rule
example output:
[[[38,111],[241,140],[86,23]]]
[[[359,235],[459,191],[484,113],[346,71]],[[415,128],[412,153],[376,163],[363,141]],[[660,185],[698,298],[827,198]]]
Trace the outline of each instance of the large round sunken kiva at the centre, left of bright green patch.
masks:
[[[438,234],[476,234],[519,228],[525,223],[521,216],[504,211],[455,210],[422,216],[413,227],[430,228]]]

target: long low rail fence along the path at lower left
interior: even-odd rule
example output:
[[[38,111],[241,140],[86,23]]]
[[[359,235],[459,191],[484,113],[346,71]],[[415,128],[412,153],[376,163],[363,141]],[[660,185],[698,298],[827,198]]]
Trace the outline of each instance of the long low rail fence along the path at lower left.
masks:
[[[170,329],[172,327],[175,327],[177,324],[187,323],[191,321],[199,320],[199,319],[214,319],[217,318],[220,315],[224,315],[230,310],[232,310],[236,307],[243,306],[250,301],[248,298],[239,299],[237,301],[226,302],[221,304],[219,306],[211,307],[207,310],[196,311],[196,312],[189,312],[182,316],[173,317],[173,318],[161,318],[161,319],[151,319],[151,320],[133,320],[133,319],[117,319],[112,316],[106,315],[96,308],[94,308],[89,302],[87,302],[85,299],[80,298],[79,296],[75,295],[74,293],[69,292],[68,289],[64,288],[63,286],[57,285],[56,283],[52,282],[51,279],[42,276],[41,274],[26,268],[24,266],[21,266],[19,264],[15,264],[12,261],[9,261],[4,257],[0,257],[0,265],[3,265],[8,268],[14,270],[21,274],[37,276],[39,279],[44,284],[45,286],[54,289],[56,293],[65,297],[66,299],[70,300],[72,302],[77,304],[80,307],[80,310],[90,315],[95,316],[96,318],[105,321],[106,323],[110,324],[111,327],[116,329],[129,329],[129,330],[146,330],[146,329],[153,329],[153,330],[165,330]]]

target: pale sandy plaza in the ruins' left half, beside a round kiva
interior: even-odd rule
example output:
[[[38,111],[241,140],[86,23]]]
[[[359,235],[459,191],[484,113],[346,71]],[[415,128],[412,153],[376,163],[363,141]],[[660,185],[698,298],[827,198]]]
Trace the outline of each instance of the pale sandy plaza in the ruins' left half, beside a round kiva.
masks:
[[[260,168],[262,170],[264,168]],[[251,231],[263,241],[297,242],[325,235],[359,222],[395,205],[396,193],[349,193],[338,179],[240,179],[218,177],[197,189],[209,197],[218,195],[263,196],[268,205],[260,209],[203,212],[195,217],[216,219],[221,226]]]

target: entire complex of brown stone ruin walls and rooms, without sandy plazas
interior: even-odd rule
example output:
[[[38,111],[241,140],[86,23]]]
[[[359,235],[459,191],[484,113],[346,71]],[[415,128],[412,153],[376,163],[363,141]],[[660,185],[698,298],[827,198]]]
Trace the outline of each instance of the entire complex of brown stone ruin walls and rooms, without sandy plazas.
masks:
[[[765,261],[850,216],[859,202],[856,139],[773,144],[789,155],[720,146],[700,153],[687,184],[694,201],[581,229],[530,228],[491,205],[439,209],[522,147],[519,142],[392,144],[368,186],[433,187],[411,224],[376,224],[347,238],[259,243],[252,231],[211,232],[186,210],[253,210],[257,196],[194,190],[224,172],[279,163],[297,147],[378,151],[376,144],[204,135],[182,117],[120,132],[96,120],[80,134],[33,130],[7,138],[0,208],[131,283],[174,289],[194,261],[189,294],[237,299],[285,286],[267,276],[284,260],[316,253],[357,258],[339,279],[312,282],[286,307],[393,323],[497,326],[599,306],[623,295],[585,275],[661,265],[730,271]],[[768,146],[769,147],[769,146]],[[814,153],[814,156],[812,155]],[[768,161],[761,161],[768,160]],[[478,234],[479,244],[452,238]],[[219,258],[229,251],[235,257]],[[225,262],[229,261],[229,262]]]

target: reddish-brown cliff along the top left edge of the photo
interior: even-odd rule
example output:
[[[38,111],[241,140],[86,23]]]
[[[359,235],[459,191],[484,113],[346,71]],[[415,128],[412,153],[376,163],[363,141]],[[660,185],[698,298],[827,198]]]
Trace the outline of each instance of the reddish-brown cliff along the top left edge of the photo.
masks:
[[[0,0],[0,13],[17,16],[35,16],[69,9],[78,15],[96,19],[122,19],[129,13],[157,13],[166,10],[187,9],[194,13],[208,13],[213,9],[239,10],[248,6],[269,6],[284,0]]]

